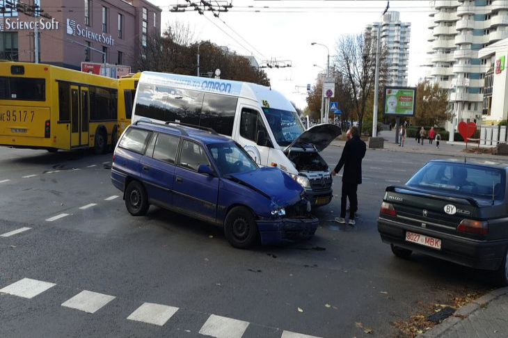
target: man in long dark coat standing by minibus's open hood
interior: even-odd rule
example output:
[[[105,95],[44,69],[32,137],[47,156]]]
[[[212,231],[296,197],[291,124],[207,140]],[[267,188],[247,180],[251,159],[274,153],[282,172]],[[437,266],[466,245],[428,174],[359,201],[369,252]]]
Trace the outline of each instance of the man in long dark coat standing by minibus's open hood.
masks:
[[[354,225],[355,213],[358,210],[358,198],[356,190],[358,184],[362,183],[362,160],[365,156],[367,147],[363,140],[360,140],[360,131],[357,127],[351,127],[348,131],[351,138],[344,145],[340,161],[332,171],[335,176],[344,167],[342,173],[342,198],[340,199],[340,217],[335,218],[335,222],[346,223],[346,205],[349,198],[349,224]]]

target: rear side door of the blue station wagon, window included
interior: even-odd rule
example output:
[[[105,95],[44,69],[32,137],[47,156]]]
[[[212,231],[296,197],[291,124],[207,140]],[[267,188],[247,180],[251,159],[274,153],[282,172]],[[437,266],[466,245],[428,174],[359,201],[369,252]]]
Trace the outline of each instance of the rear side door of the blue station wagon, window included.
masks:
[[[154,133],[141,159],[141,178],[150,203],[173,206],[175,159],[180,137]]]

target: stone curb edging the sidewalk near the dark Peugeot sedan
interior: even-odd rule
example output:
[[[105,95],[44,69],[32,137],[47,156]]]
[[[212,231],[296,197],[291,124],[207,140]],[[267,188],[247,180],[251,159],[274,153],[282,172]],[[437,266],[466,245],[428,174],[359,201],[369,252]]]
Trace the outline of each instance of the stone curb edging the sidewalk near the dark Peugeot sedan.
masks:
[[[500,296],[504,296],[508,294],[508,287],[502,287],[500,289],[495,289],[489,293],[486,293],[484,296],[473,300],[473,302],[468,305],[464,305],[460,309],[458,309],[452,316],[445,319],[442,323],[437,324],[427,332],[422,335],[416,336],[416,338],[436,338],[443,335],[447,330],[450,330],[452,326],[459,323],[459,321],[463,321],[463,319],[470,314],[473,314],[478,309],[482,309],[491,303],[491,301],[499,298]]]

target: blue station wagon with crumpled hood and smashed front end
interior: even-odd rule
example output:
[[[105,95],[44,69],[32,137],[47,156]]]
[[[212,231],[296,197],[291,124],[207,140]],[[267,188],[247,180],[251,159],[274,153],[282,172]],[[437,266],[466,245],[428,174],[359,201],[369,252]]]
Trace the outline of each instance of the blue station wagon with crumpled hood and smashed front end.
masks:
[[[212,129],[136,122],[118,142],[111,181],[133,216],[154,204],[223,225],[236,248],[310,238],[319,223],[300,184],[278,168],[259,168]]]

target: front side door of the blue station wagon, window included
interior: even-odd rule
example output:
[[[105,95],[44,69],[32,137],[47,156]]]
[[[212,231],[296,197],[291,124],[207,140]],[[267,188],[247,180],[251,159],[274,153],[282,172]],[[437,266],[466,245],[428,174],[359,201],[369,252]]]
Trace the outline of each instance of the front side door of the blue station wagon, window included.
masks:
[[[198,173],[201,164],[210,166],[207,153],[201,145],[184,139],[181,148],[180,163],[175,169],[173,204],[186,214],[215,220],[219,178]]]

